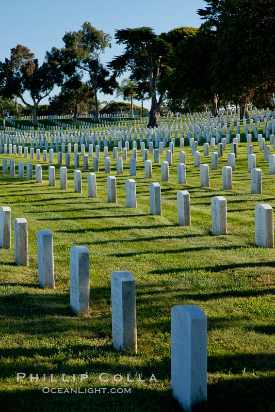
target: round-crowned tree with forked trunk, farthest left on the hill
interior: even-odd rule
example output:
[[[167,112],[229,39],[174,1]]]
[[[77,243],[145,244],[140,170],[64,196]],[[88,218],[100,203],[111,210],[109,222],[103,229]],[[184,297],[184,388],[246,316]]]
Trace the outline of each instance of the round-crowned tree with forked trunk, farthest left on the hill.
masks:
[[[21,45],[11,49],[10,60],[6,59],[6,64],[11,75],[11,90],[31,109],[33,123],[37,126],[37,106],[50,94],[55,84],[62,83],[62,72],[55,64],[49,62],[43,62],[39,66],[30,49]],[[30,93],[33,104],[28,103],[23,97],[26,91]]]

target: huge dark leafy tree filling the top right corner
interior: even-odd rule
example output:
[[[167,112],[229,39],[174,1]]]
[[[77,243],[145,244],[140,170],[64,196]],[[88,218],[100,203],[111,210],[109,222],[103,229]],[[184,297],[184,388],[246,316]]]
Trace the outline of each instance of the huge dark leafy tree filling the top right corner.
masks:
[[[216,85],[248,116],[253,96],[275,90],[275,4],[271,0],[209,0],[198,10],[217,32]],[[268,41],[267,41],[268,39]],[[256,93],[256,91],[258,91]]]

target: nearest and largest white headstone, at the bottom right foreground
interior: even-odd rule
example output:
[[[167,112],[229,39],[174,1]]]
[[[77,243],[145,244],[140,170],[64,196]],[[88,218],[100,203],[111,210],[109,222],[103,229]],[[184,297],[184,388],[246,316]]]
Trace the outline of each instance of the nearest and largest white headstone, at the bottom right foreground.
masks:
[[[197,306],[172,308],[171,387],[188,412],[207,398],[207,318]]]

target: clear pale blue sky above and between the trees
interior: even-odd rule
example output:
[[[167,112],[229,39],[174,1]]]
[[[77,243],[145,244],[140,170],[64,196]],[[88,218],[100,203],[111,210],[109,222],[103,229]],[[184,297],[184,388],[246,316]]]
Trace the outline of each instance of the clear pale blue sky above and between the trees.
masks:
[[[1,7],[0,60],[9,57],[10,49],[21,44],[30,48],[42,63],[47,50],[64,46],[62,37],[65,32],[80,30],[85,21],[112,37],[116,29],[123,28],[146,26],[160,34],[180,26],[199,27],[202,20],[196,11],[206,5],[203,0],[4,1]],[[112,48],[102,55],[103,63],[122,52],[123,47],[115,44],[113,39]],[[58,90],[55,88],[51,95],[57,94]],[[121,97],[117,99],[101,93],[98,98],[100,101],[122,100]],[[27,95],[26,99],[29,101]],[[47,98],[41,101],[41,104],[46,103]],[[135,103],[140,105],[140,102]],[[144,106],[149,108],[149,101]]]

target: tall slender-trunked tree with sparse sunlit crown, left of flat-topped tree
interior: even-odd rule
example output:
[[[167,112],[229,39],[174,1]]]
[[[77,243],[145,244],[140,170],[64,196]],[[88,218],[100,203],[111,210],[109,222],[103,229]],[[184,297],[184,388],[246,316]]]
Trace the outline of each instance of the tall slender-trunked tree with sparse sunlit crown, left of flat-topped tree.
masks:
[[[66,32],[63,41],[65,48],[61,50],[61,54],[64,63],[72,63],[81,77],[84,73],[89,76],[90,85],[94,90],[98,119],[97,92],[112,95],[113,89],[117,86],[115,77],[110,76],[110,72],[100,60],[105,48],[111,48],[111,36],[85,22],[78,32]]]

